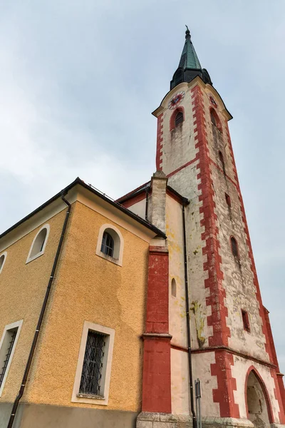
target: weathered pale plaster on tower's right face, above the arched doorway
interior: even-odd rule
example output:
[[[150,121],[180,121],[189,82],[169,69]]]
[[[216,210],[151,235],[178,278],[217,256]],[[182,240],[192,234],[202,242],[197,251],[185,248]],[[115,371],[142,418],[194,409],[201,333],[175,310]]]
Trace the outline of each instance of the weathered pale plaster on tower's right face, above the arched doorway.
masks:
[[[214,186],[215,213],[219,228],[219,254],[222,257],[222,272],[224,273],[224,287],[226,287],[225,305],[228,310],[227,326],[230,329],[229,347],[248,352],[262,360],[269,360],[265,350],[265,336],[262,332],[262,321],[259,315],[259,302],[256,297],[256,287],[253,282],[251,260],[247,237],[244,233],[242,212],[240,209],[239,193],[234,177],[231,153],[227,144],[227,132],[224,124],[221,107],[217,103],[214,107],[218,114],[222,132],[213,126],[210,118],[210,93],[204,94],[204,110],[206,129],[209,143],[209,157],[212,160],[211,173]],[[219,151],[224,157],[225,170],[219,159]],[[227,205],[225,193],[231,198],[231,207]],[[234,258],[230,246],[230,237],[236,238],[239,246],[239,258]],[[251,332],[244,330],[242,312],[249,314]]]

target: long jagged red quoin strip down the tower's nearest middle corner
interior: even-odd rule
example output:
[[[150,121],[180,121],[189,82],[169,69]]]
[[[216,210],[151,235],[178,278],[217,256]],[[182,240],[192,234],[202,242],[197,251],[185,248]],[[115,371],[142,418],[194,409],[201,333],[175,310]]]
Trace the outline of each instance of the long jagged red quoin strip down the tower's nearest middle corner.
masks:
[[[217,214],[214,213],[214,190],[212,188],[211,162],[207,143],[205,124],[204,102],[201,88],[196,85],[191,90],[192,106],[194,111],[195,148],[199,149],[197,158],[200,172],[197,178],[201,180],[198,190],[201,190],[199,200],[202,201],[200,213],[203,219],[200,225],[204,226],[202,240],[206,245],[202,249],[203,255],[207,255],[204,270],[208,272],[208,279],[204,280],[204,286],[209,288],[209,297],[206,305],[211,307],[212,315],[207,317],[207,323],[213,328],[213,335],[209,337],[209,346],[228,346],[230,330],[227,327],[227,307],[225,305],[226,292],[222,286],[224,274],[221,270],[222,258],[219,255],[219,229],[217,227]],[[234,357],[227,352],[215,352],[216,364],[211,365],[213,376],[217,376],[218,388],[213,389],[213,400],[219,403],[221,417],[239,417],[239,406],[234,403],[234,389],[237,389],[235,379],[232,377],[231,366]]]

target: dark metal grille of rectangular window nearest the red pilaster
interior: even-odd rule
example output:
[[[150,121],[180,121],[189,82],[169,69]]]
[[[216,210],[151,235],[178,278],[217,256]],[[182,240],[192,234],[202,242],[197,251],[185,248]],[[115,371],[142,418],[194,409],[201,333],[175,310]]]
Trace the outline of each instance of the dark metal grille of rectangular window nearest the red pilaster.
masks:
[[[100,380],[102,377],[104,347],[105,335],[89,331],[79,393],[102,395],[100,392]]]

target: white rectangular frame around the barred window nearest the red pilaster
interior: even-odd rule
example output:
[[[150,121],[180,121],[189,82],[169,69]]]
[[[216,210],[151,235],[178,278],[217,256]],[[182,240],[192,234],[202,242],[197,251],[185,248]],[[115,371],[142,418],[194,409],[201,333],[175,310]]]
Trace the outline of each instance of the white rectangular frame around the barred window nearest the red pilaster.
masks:
[[[84,355],[86,350],[86,342],[87,342],[87,336],[88,336],[89,330],[93,332],[103,333],[103,335],[107,336],[106,345],[104,348],[104,357],[103,357],[103,372],[102,372],[103,384],[101,385],[102,392],[103,392],[102,398],[98,398],[98,397],[93,398],[89,394],[79,393],[79,388],[81,384],[81,374],[83,369],[83,361],[84,361]],[[108,399],[109,399],[114,339],[115,339],[115,330],[113,330],[113,328],[95,324],[94,322],[88,322],[88,321],[84,322],[71,402],[101,404],[103,406],[107,406]]]

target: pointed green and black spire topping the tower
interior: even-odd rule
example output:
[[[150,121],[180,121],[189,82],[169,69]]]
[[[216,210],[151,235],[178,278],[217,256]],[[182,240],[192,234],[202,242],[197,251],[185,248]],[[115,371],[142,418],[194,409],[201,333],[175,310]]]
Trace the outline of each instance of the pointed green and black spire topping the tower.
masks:
[[[201,67],[199,58],[192,44],[190,30],[188,29],[188,26],[186,26],[185,45],[183,47],[179,66],[170,82],[170,89],[175,88],[179,83],[190,82],[196,76],[200,76],[204,83],[212,85],[209,73]]]

